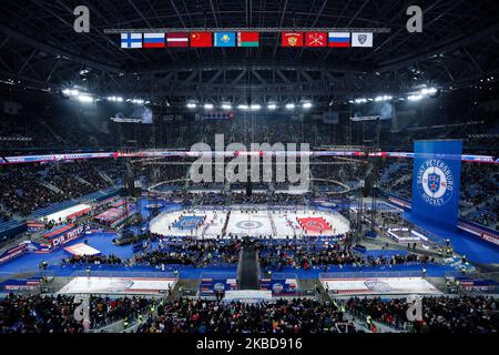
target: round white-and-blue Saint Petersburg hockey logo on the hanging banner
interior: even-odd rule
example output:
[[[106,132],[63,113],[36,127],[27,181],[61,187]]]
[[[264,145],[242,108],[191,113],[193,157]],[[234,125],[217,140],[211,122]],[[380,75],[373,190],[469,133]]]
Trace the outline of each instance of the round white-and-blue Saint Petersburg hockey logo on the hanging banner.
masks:
[[[445,205],[452,196],[452,172],[445,162],[428,160],[418,170],[417,186],[419,195],[426,203]]]

